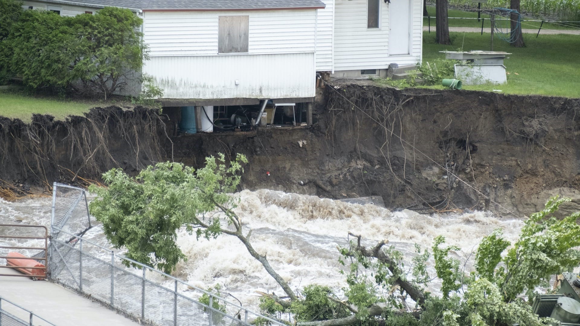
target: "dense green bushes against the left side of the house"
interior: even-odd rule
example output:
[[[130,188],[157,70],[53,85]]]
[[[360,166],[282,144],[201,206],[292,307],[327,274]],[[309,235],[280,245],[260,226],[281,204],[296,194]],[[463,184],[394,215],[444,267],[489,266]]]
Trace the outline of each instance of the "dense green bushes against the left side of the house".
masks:
[[[147,47],[139,32],[143,20],[131,10],[106,7],[75,17],[25,10],[14,17],[17,21],[0,44],[0,63],[5,74],[21,75],[31,88],[106,98],[140,79]]]

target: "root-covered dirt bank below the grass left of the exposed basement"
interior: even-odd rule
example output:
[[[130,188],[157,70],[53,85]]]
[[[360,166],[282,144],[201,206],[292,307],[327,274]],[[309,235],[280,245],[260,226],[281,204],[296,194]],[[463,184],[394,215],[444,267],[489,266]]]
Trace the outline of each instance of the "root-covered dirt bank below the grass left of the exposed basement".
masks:
[[[137,171],[165,159],[165,124],[158,110],[93,108],[56,121],[35,114],[30,124],[0,117],[0,187],[50,189],[55,181],[86,185],[111,168]]]

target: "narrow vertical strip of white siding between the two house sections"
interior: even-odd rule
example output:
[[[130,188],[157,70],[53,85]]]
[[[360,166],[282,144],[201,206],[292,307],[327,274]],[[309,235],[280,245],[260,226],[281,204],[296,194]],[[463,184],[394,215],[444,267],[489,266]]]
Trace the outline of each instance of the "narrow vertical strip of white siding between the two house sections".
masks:
[[[322,0],[326,8],[317,10],[316,71],[333,71],[332,58],[334,0]]]

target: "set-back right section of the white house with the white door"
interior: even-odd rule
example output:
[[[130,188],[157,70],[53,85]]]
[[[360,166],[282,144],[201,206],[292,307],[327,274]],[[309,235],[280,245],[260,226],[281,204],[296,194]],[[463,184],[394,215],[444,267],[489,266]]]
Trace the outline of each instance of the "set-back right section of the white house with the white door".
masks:
[[[317,58],[327,56],[333,77],[385,75],[389,64],[416,64],[422,59],[423,0],[323,0],[318,9]],[[389,3],[390,2],[390,3]],[[331,22],[332,23],[329,23]],[[332,26],[332,28],[328,28]],[[319,54],[320,53],[320,54]]]

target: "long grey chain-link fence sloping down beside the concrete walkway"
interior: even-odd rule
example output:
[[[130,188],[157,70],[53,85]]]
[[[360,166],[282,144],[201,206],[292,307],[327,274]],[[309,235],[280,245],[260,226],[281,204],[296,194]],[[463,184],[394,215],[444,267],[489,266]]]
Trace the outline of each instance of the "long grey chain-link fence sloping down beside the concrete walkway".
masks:
[[[90,295],[92,299],[99,300],[141,323],[242,326],[260,318],[271,325],[283,325],[160,270],[117,255],[94,242],[55,226],[53,229],[75,240],[66,243],[51,239],[50,280],[73,288],[81,294]],[[111,259],[107,262],[89,251],[100,255],[107,252]],[[137,266],[141,271],[122,266],[124,262]],[[162,284],[165,285],[147,279],[148,275],[149,278],[164,278]],[[179,288],[193,291],[197,299],[183,295]],[[204,295],[209,299],[209,305],[198,300]]]

